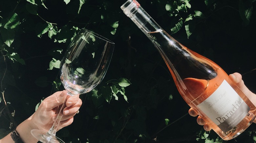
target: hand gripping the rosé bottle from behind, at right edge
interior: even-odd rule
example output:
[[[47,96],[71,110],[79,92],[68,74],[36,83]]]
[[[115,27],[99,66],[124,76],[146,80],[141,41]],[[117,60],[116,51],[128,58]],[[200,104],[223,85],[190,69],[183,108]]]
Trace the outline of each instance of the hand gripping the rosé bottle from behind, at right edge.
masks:
[[[230,79],[245,93],[245,95],[249,98],[249,100],[256,105],[256,94],[252,93],[246,86],[244,81],[242,80],[242,75],[240,73],[233,73],[229,75]],[[188,110],[190,116],[196,117],[198,113],[193,108]],[[256,119],[253,121],[256,123]],[[203,125],[205,131],[210,131],[211,127],[200,117],[197,118],[197,123],[199,125]]]

